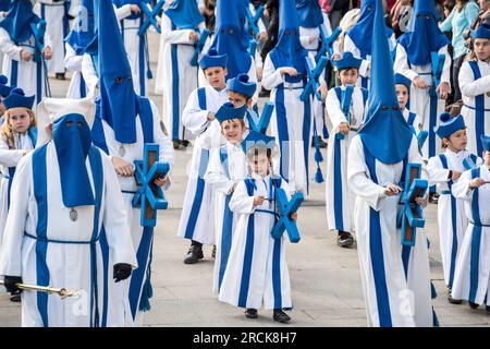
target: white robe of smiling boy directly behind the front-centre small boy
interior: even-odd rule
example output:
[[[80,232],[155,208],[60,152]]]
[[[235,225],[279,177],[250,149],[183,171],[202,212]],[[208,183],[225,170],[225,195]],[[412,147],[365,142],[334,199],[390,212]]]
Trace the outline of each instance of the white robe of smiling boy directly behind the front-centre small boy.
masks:
[[[220,152],[226,154],[223,161]],[[212,214],[213,230],[216,232],[216,256],[213,272],[212,291],[218,296],[220,280],[224,276],[228,256],[231,249],[231,238],[236,224],[236,215],[229,212],[228,203],[233,194],[233,186],[247,176],[247,159],[241,145],[233,145],[229,142],[219,148],[211,151],[208,170],[205,176],[206,183],[212,190]],[[224,231],[223,221],[231,217],[230,230]]]

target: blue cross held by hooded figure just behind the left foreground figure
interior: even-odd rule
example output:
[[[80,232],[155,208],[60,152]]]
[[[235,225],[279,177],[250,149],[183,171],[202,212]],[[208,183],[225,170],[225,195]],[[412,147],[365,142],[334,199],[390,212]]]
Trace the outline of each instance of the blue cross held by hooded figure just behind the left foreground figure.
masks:
[[[158,144],[145,144],[143,161],[134,161],[136,184],[140,188],[134,194],[132,204],[133,207],[142,207],[143,227],[155,227],[157,210],[168,206],[163,191],[154,183],[155,179],[164,178],[170,170],[168,163],[157,161],[159,154]]]

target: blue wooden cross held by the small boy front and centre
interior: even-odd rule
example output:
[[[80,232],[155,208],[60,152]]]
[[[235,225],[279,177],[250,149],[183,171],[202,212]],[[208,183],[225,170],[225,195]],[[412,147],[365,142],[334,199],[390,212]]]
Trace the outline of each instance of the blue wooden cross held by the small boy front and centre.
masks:
[[[297,230],[296,221],[291,218],[291,214],[297,212],[305,200],[304,195],[302,193],[295,193],[293,197],[291,197],[291,201],[287,201],[285,191],[281,188],[275,188],[274,196],[279,209],[279,220],[272,228],[272,238],[280,239],[282,233],[286,231],[292,243],[299,242],[299,230]]]

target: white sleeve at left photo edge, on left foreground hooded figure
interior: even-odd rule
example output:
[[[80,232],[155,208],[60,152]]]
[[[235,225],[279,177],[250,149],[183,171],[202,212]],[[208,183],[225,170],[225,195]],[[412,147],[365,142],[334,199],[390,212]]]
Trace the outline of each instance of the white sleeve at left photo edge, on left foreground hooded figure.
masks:
[[[0,251],[0,275],[22,276],[22,243],[32,193],[32,155],[17,165],[11,188],[11,202]]]

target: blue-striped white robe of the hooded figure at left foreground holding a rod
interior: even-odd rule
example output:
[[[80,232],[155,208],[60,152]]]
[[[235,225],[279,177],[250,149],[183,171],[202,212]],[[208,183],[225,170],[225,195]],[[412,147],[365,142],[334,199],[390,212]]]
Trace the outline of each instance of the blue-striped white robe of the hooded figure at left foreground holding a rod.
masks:
[[[105,266],[101,244],[111,249],[113,264],[137,266],[126,209],[109,158],[93,146],[86,166],[96,205],[75,207],[73,221],[71,208],[63,205],[54,144],[25,155],[17,165],[0,274],[22,276],[25,284],[81,290],[79,298],[64,300],[24,291],[23,326],[124,325],[128,301],[107,292],[112,265]]]

